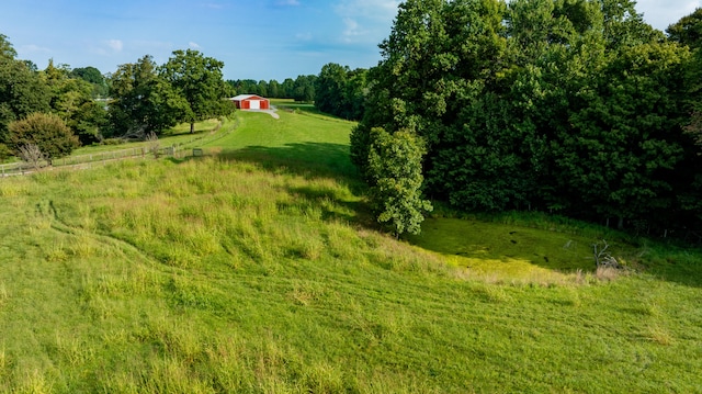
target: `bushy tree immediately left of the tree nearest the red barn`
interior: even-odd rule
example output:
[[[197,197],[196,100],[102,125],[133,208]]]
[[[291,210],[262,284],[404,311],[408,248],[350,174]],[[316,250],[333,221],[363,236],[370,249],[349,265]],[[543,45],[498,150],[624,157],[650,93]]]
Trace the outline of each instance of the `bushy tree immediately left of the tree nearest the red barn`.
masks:
[[[192,121],[189,102],[157,72],[151,56],[117,68],[111,78],[109,116],[113,136],[160,134],[182,121]]]

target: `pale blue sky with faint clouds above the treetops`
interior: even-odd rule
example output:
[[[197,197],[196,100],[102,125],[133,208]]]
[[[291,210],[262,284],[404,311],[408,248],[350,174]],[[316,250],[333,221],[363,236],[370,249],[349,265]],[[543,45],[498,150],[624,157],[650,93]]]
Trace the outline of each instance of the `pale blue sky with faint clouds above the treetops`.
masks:
[[[151,55],[194,48],[225,63],[225,79],[296,78],[327,63],[369,68],[388,36],[398,0],[2,0],[0,34],[18,57],[103,74]],[[639,0],[654,27],[702,0]]]

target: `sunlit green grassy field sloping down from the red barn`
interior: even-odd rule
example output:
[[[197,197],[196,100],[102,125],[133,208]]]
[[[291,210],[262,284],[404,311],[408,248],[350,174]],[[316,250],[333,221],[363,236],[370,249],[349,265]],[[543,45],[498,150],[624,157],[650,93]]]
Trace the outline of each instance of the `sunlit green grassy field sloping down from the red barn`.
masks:
[[[375,230],[351,123],[0,179],[0,392],[702,392],[697,250],[539,217]],[[630,270],[595,272],[601,237]]]

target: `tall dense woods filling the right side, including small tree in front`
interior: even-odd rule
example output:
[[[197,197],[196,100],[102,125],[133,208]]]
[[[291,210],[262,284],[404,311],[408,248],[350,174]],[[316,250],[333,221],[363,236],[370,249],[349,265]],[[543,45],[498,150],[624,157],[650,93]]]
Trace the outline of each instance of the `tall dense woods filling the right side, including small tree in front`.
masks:
[[[426,195],[464,211],[700,228],[702,11],[666,35],[634,5],[401,3],[351,136],[378,221],[417,232]],[[326,67],[319,80],[344,72]]]

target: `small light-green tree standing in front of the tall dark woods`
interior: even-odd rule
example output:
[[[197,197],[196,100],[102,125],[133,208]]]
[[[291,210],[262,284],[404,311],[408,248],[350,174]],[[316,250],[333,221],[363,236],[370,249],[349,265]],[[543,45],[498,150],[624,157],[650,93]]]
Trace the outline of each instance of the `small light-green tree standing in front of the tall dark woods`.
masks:
[[[409,131],[371,131],[371,204],[377,222],[396,236],[419,234],[424,212],[432,210],[429,201],[421,198],[423,155],[422,142]]]

